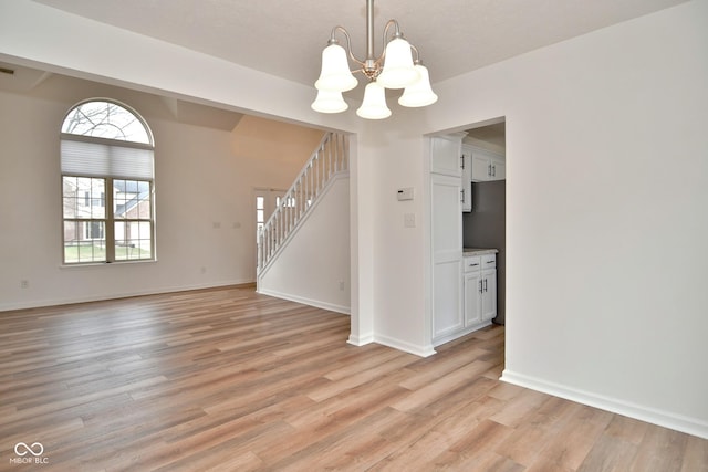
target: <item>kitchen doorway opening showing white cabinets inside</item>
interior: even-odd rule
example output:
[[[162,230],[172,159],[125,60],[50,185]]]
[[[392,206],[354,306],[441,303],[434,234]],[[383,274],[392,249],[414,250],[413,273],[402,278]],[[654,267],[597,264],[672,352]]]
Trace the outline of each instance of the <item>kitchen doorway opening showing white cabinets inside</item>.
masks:
[[[439,132],[430,139],[435,347],[492,323],[506,324],[506,119]]]

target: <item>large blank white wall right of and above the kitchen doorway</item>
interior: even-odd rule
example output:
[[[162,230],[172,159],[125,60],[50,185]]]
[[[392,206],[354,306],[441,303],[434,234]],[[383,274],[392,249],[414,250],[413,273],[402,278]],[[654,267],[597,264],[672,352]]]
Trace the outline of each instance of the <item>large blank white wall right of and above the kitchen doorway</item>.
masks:
[[[607,28],[438,84],[431,111],[507,119],[503,378],[702,437],[706,24],[699,0]]]

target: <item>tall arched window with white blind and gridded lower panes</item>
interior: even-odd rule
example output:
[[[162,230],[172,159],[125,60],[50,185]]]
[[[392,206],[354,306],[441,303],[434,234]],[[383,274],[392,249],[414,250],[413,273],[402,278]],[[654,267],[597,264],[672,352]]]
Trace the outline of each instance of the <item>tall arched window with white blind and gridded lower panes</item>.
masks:
[[[155,259],[153,134],[128,106],[75,105],[61,129],[64,264]]]

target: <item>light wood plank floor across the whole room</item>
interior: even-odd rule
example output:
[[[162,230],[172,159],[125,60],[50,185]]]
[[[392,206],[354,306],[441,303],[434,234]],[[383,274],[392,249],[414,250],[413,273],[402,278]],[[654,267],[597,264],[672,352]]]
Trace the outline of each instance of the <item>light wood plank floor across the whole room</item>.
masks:
[[[423,359],[228,287],[4,312],[0,333],[2,471],[708,471],[706,440],[498,381],[500,326]],[[20,442],[48,463],[11,462]]]

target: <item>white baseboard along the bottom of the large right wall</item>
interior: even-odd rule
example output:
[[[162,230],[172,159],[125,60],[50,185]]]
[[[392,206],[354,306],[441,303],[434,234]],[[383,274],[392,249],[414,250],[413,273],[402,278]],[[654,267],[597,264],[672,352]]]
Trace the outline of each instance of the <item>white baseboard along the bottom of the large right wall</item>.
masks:
[[[566,400],[587,405],[590,407],[600,408],[613,413],[646,421],[660,427],[681,431],[687,434],[697,436],[708,439],[708,423],[694,418],[681,415],[675,415],[669,411],[657,410],[644,407],[616,398],[604,397],[593,392],[570,388],[560,384],[549,382],[523,374],[518,374],[504,369],[501,375],[502,381],[518,385],[520,387],[530,388],[532,390],[542,391],[554,397],[564,398]]]

